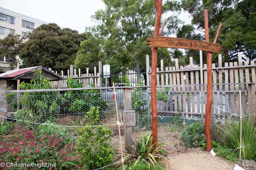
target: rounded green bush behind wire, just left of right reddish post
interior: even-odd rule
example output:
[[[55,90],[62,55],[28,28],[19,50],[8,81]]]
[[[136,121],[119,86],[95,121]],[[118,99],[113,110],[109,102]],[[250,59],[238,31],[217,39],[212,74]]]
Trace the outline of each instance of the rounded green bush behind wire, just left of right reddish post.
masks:
[[[200,146],[200,141],[203,139],[202,134],[205,134],[204,124],[192,123],[182,131],[181,139],[189,147]]]

